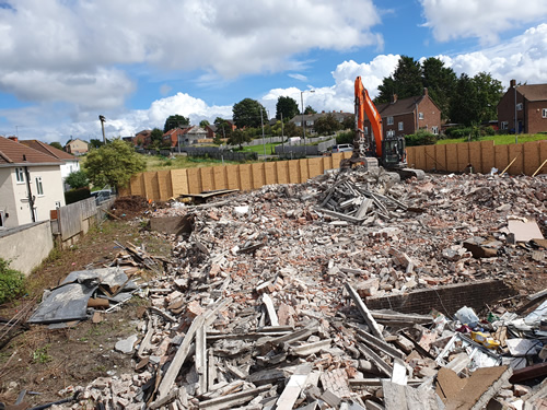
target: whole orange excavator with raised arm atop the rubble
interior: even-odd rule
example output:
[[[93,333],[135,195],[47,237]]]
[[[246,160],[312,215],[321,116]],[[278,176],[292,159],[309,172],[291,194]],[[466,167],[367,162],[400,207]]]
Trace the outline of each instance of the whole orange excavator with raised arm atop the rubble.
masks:
[[[364,132],[364,121],[369,119],[371,132]],[[341,167],[366,165],[368,168],[382,165],[388,171],[394,171],[401,178],[417,177],[423,179],[421,169],[407,167],[406,143],[404,136],[386,136],[382,130],[382,117],[376,106],[363,86],[361,77],[356,79],[356,137],[353,140],[353,154],[349,161],[340,164]]]

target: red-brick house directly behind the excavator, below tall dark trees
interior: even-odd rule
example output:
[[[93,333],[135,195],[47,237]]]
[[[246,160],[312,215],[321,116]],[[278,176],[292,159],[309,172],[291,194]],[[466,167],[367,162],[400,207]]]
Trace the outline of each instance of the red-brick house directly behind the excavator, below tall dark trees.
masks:
[[[423,94],[408,98],[398,99],[393,96],[391,103],[376,105],[382,117],[382,138],[387,136],[407,136],[424,129],[433,134],[441,130],[441,109],[431,99],[428,89]],[[371,124],[364,121],[365,136],[371,132]]]

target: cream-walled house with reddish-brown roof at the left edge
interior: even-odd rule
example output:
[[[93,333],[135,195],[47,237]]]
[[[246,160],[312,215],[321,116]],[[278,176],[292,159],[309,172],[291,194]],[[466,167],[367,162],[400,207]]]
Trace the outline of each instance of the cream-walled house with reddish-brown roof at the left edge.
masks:
[[[50,210],[65,206],[61,165],[14,137],[0,137],[1,229],[49,220]]]

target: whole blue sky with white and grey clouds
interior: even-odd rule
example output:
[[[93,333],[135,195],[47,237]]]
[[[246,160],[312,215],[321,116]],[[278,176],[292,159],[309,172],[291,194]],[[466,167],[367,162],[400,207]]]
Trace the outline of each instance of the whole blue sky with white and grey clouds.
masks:
[[[356,77],[375,96],[401,55],[547,83],[545,0],[0,0],[0,136],[102,139],[103,115],[128,137],[243,98],[353,112]]]

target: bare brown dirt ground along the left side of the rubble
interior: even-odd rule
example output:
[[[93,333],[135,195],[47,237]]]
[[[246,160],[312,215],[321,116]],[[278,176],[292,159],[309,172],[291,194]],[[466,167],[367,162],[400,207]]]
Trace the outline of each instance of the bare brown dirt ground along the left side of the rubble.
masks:
[[[119,203],[118,203],[119,202]],[[149,254],[168,256],[171,246],[142,230],[138,216],[152,206],[129,198],[115,203],[119,220],[104,221],[92,227],[67,250],[54,249],[48,259],[28,277],[27,295],[0,306],[0,317],[32,312],[44,289],[56,286],[68,273],[85,268],[101,268],[121,250],[114,241],[126,245],[146,245]],[[137,216],[137,219],[136,219]],[[104,315],[103,321],[82,321],[71,328],[50,330],[31,326],[19,335],[4,335],[0,324],[0,401],[13,403],[21,390],[28,391],[25,401],[35,406],[65,397],[69,386],[85,386],[96,377],[121,375],[131,370],[131,358],[114,351],[115,343],[136,333],[139,314],[147,301],[133,297],[117,312]]]

